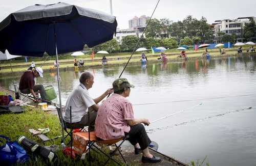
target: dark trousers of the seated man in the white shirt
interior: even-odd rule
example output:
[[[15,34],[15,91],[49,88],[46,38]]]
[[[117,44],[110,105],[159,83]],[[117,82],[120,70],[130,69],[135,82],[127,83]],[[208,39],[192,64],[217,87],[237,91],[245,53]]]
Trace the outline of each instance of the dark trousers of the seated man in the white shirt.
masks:
[[[87,113],[82,117],[80,122],[75,122],[75,123],[65,122],[67,128],[72,127],[73,129],[77,129],[77,128],[82,128],[84,126],[89,126],[89,130],[94,131],[94,124],[97,117],[97,112],[90,107],[89,114],[90,114],[90,120],[88,119],[88,113]]]

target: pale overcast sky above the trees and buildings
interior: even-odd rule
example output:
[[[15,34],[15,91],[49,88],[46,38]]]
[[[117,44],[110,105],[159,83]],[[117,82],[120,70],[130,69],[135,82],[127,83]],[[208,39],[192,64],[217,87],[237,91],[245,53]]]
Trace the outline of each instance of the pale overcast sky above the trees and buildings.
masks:
[[[129,27],[128,20],[134,16],[151,16],[158,0],[112,0],[113,15],[116,16],[118,27],[126,29]],[[65,2],[84,8],[92,8],[102,12],[110,13],[109,0],[1,0],[0,21],[10,13],[35,4],[54,4]],[[236,19],[238,17],[256,16],[255,0],[160,0],[160,3],[153,15],[153,18],[169,18],[173,21],[183,20],[186,16],[192,15],[200,19],[206,17],[208,23],[215,20]]]

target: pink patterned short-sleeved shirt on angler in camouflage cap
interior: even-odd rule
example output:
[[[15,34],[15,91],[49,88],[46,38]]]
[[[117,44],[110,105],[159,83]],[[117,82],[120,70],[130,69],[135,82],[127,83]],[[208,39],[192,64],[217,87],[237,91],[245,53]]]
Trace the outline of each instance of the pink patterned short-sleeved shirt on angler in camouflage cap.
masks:
[[[96,136],[102,140],[114,140],[130,131],[126,120],[133,120],[132,103],[125,97],[112,94],[99,107],[95,121]]]

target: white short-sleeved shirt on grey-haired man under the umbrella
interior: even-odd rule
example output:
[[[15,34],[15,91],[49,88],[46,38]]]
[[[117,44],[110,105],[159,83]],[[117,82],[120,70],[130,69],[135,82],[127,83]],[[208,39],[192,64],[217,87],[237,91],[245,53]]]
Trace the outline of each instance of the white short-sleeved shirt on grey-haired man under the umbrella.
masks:
[[[75,88],[65,106],[64,120],[70,123],[70,106],[72,112],[72,123],[80,122],[81,118],[88,112],[88,107],[94,105],[95,102],[89,95],[88,90],[83,84]]]

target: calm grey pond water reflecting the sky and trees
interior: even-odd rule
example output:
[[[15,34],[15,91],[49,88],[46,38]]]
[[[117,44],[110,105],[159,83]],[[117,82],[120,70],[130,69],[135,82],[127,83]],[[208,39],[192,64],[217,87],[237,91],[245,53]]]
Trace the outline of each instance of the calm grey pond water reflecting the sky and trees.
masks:
[[[67,97],[78,85],[82,71],[94,74],[89,90],[98,97],[119,76],[123,66],[61,70],[61,96]],[[146,127],[159,144],[159,151],[183,162],[206,161],[210,165],[255,165],[256,163],[256,56],[201,59],[180,63],[128,65],[122,77],[135,88],[129,100],[136,118],[150,121],[184,112]],[[0,85],[13,89],[20,74],[1,75]],[[37,84],[53,85],[56,72],[46,71]],[[200,106],[198,106],[202,103]]]

